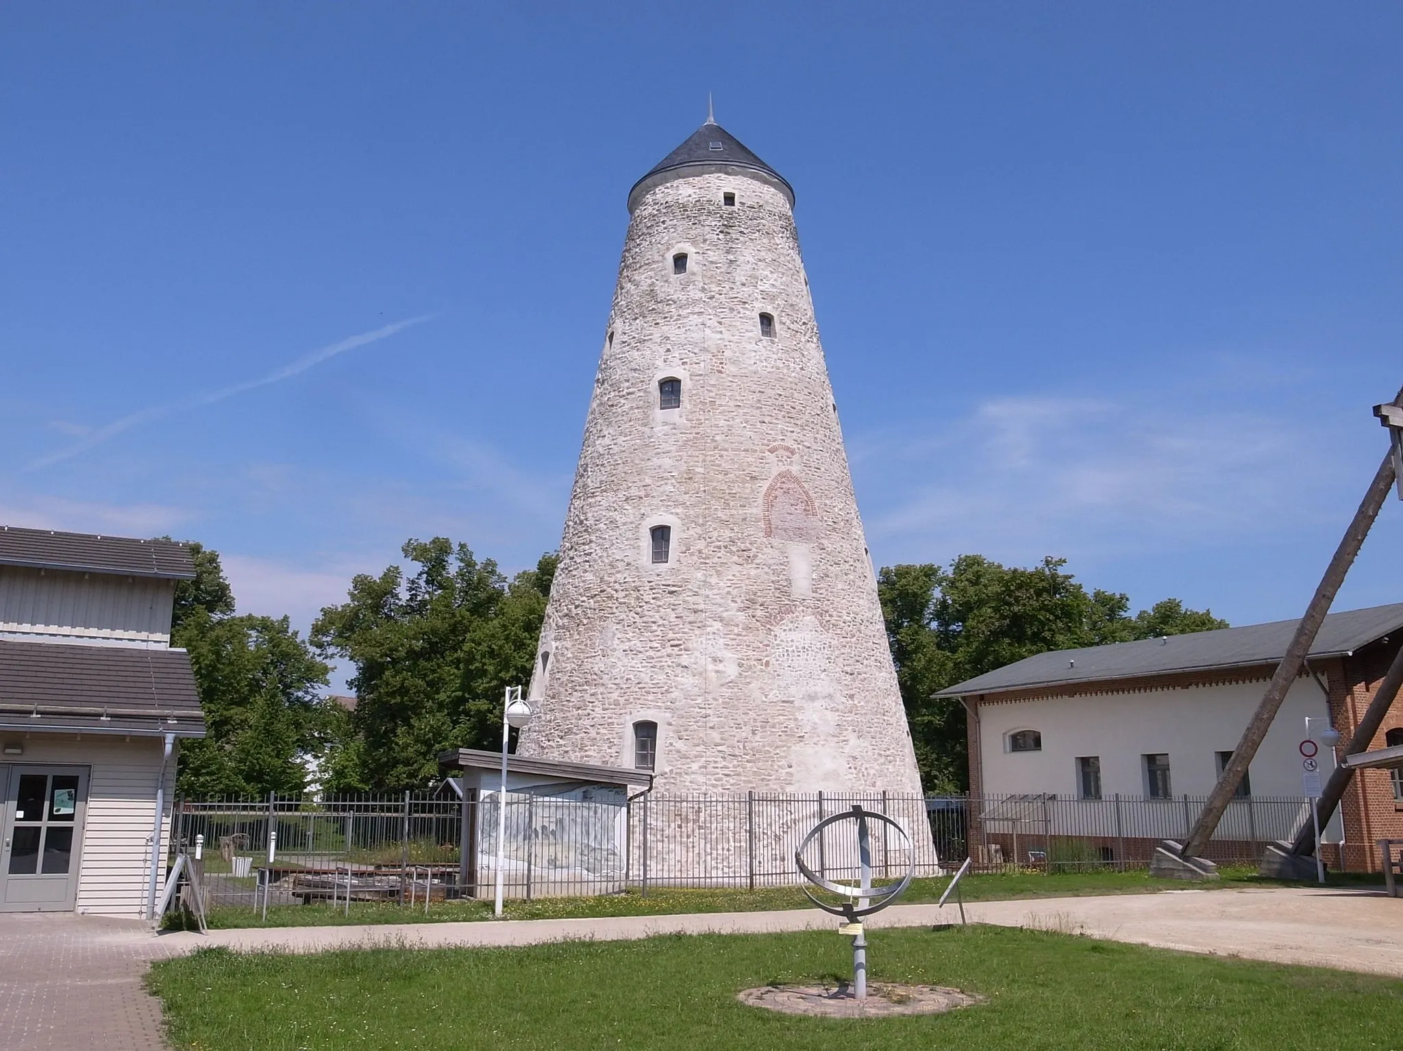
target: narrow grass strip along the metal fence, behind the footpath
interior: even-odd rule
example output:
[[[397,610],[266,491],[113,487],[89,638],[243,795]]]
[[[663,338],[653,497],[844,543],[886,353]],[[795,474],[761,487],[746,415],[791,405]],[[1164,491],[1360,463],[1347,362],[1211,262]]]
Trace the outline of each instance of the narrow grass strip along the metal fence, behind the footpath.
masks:
[[[913,880],[902,894],[904,904],[939,901],[950,884],[948,879]],[[1331,886],[1382,886],[1381,876],[1333,874]],[[1223,869],[1215,883],[1186,884],[1180,880],[1157,880],[1146,870],[1093,873],[1016,873],[998,876],[967,876],[960,887],[965,901],[1007,901],[1013,898],[1063,898],[1090,894],[1149,894],[1163,890],[1280,887],[1280,880],[1263,880],[1256,869]],[[951,898],[951,907],[953,907]],[[637,916],[671,915],[678,912],[753,912],[773,908],[810,908],[810,901],[798,887],[762,887],[758,890],[650,890],[648,897],[637,891],[585,898],[537,898],[508,901],[508,919],[561,919],[572,916]],[[951,909],[953,911],[953,909]],[[419,923],[492,919],[491,901],[434,902],[425,916],[422,907],[411,911],[397,904],[352,902],[349,919],[330,905],[274,905],[268,922],[251,908],[210,909],[209,923],[215,928],[234,926],[323,926],[340,923]],[[168,914],[167,929],[184,921]]]

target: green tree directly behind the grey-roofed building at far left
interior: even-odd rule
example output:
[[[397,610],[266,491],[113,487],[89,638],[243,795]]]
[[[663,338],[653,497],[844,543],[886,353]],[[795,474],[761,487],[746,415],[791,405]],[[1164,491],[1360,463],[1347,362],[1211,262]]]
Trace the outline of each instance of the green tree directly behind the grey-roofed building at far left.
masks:
[[[300,792],[304,758],[328,737],[330,712],[317,689],[328,668],[286,617],[236,617],[219,554],[191,547],[195,579],[175,586],[171,643],[189,652],[206,737],[181,747],[180,790]]]

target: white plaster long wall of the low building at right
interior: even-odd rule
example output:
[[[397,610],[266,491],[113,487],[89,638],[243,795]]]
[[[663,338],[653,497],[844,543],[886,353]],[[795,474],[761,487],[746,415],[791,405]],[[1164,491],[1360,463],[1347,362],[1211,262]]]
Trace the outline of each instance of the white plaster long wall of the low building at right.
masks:
[[[1237,747],[1266,687],[1235,682],[979,705],[984,792],[1076,799],[1076,757],[1099,755],[1103,797],[1142,796],[1142,757],[1166,753],[1174,796],[1205,796],[1218,781],[1215,754]],[[1296,680],[1247,769],[1253,796],[1301,796],[1296,746],[1305,737],[1305,716],[1326,715],[1315,680]],[[1042,734],[1042,751],[1007,751],[1007,734],[1024,729]],[[1317,758],[1327,775],[1329,755],[1322,750]]]

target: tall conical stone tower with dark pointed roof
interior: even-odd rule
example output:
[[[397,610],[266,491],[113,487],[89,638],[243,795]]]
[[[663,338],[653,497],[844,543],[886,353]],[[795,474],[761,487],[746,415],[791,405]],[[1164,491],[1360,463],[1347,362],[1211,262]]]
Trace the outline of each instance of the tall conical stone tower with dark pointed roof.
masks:
[[[793,205],[711,119],[629,193],[525,755],[920,792]]]

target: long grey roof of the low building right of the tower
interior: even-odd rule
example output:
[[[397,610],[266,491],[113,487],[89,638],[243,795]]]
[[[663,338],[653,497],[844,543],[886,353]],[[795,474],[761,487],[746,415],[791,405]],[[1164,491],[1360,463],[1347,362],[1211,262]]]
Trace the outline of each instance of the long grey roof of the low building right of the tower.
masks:
[[[1170,635],[1167,639],[1117,642],[1024,657],[941,689],[936,696],[972,696],[1010,689],[1075,685],[1118,678],[1275,664],[1287,653],[1299,621]],[[1330,614],[1320,625],[1312,657],[1331,657],[1403,628],[1403,603]]]

